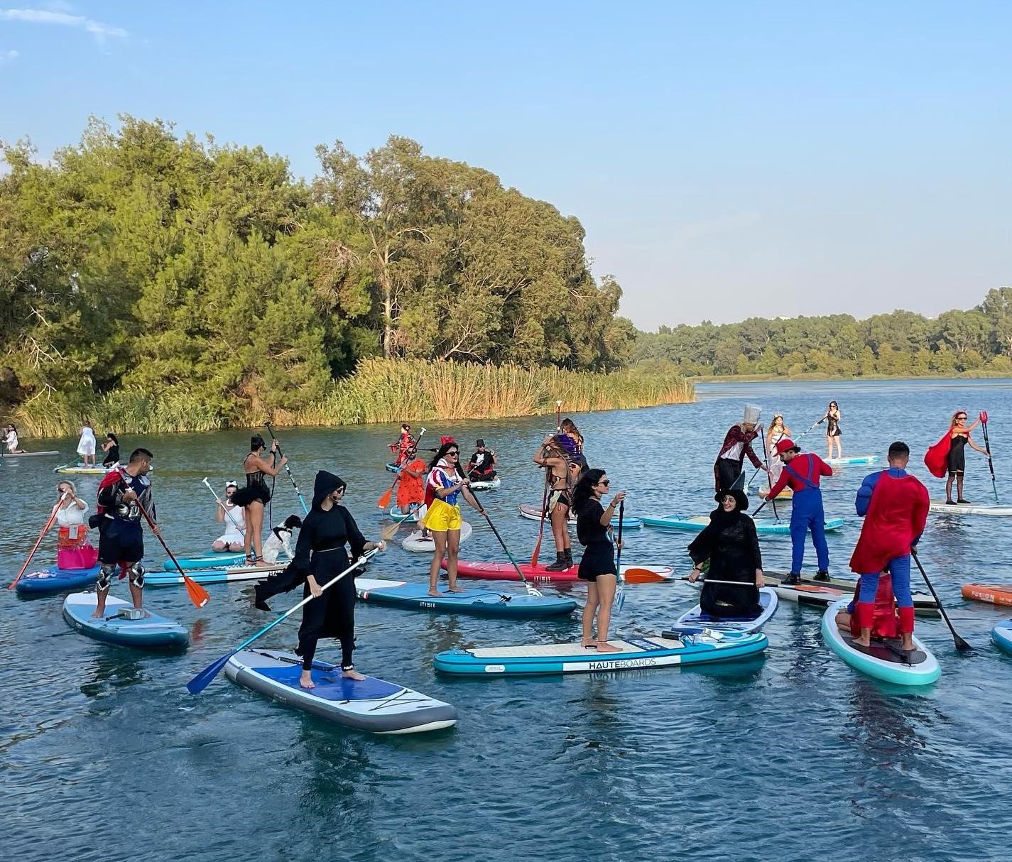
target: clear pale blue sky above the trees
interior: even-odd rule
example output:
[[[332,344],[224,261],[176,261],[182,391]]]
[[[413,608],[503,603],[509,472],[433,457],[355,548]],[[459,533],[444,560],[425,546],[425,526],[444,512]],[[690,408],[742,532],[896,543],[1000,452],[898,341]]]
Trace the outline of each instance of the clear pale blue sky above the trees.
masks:
[[[1009,2],[24,0],[0,136],[128,112],[312,176],[405,135],[578,217],[643,328],[934,315],[1012,283],[1010,34]]]

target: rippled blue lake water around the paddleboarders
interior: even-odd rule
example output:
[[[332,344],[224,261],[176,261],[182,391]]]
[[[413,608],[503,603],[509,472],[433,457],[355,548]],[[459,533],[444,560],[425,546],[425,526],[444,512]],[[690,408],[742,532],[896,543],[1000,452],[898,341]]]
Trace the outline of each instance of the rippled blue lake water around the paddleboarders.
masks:
[[[920,457],[963,408],[991,416],[998,490],[1012,501],[1012,381],[706,384],[698,402],[575,416],[592,465],[627,489],[629,514],[701,514],[713,507],[711,464],[746,403],[763,419],[782,411],[795,436],[831,399],[843,411],[845,454],[884,453],[897,438]],[[517,504],[540,499],[530,457],[551,419],[430,426],[468,453],[482,436],[502,462],[502,489],[486,495],[515,553],[529,555],[537,525]],[[99,432],[104,429],[96,429]],[[822,428],[803,441],[825,454]],[[382,526],[376,498],[389,487],[394,427],[281,433],[307,495],[317,469],[348,482],[347,504],[366,535]],[[159,520],[178,554],[208,548],[220,532],[216,487],[241,480],[249,432],[124,438],[156,454]],[[978,435],[979,436],[979,435]],[[59,447],[75,440],[24,440]],[[967,451],[966,496],[993,500],[987,461]],[[55,499],[57,459],[0,464],[5,530],[0,571],[16,573]],[[859,530],[853,495],[868,468],[824,484],[831,569],[847,569]],[[79,478],[93,498],[97,479]],[[942,483],[931,480],[932,496]],[[759,518],[771,518],[770,507]],[[278,479],[274,519],[298,512]],[[502,554],[472,513],[467,558]],[[407,528],[403,528],[405,531]],[[623,559],[688,569],[690,536],[629,532]],[[151,536],[149,556],[163,554]],[[2,592],[0,857],[17,860],[433,859],[628,860],[1007,859],[1012,657],[990,644],[1007,616],[959,597],[968,581],[1012,582],[1012,519],[932,516],[921,557],[957,630],[958,656],[939,619],[917,630],[937,655],[940,681],[920,693],[859,676],[823,644],[821,615],[781,604],[766,627],[765,659],[708,670],[458,681],[437,677],[432,656],[472,644],[570,640],[579,622],[507,622],[359,606],[359,669],[453,703],[456,728],[369,737],[274,704],[222,674],[202,695],[184,684],[271,617],[251,586],[212,587],[195,610],[185,592],[149,590],[148,604],[190,628],[178,657],[112,648],[73,633],[61,598]],[[765,565],[783,569],[789,540],[764,537]],[[551,558],[545,539],[542,559]],[[814,570],[810,548],[807,568]],[[35,563],[50,565],[44,544]],[[425,578],[427,558],[392,548],[372,577]],[[915,574],[915,583],[917,575]],[[8,578],[9,580],[9,578]],[[115,592],[115,588],[114,588]],[[123,592],[120,588],[118,592]],[[552,588],[545,588],[552,594]],[[584,590],[572,590],[582,601]],[[683,583],[630,587],[618,630],[652,633],[695,602]],[[280,609],[293,597],[275,601]],[[291,649],[296,624],[261,642]],[[320,657],[336,659],[327,641]]]

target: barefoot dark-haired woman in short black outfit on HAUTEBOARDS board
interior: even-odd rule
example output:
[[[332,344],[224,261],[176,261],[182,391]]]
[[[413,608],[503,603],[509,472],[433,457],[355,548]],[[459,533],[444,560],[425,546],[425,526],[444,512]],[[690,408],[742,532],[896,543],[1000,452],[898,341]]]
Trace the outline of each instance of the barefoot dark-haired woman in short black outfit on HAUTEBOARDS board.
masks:
[[[608,643],[611,623],[611,603],[615,598],[618,570],[615,567],[615,546],[608,535],[611,519],[618,504],[625,499],[619,491],[604,507],[601,498],[610,485],[603,469],[587,470],[573,489],[573,510],[576,512],[576,537],[586,550],[580,561],[577,577],[587,582],[587,603],[583,606],[583,636],[581,645],[599,653],[617,653]],[[597,617],[597,637],[591,633]]]

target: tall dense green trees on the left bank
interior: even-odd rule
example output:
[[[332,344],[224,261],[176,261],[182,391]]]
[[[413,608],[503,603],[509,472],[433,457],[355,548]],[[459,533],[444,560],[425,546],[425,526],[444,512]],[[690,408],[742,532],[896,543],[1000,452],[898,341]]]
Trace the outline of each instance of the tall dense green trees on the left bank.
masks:
[[[318,148],[311,182],[259,147],[92,120],[40,164],[4,147],[8,400],[177,393],[222,416],[294,409],[364,357],[627,364],[621,290],[584,231],[488,171],[391,138]]]

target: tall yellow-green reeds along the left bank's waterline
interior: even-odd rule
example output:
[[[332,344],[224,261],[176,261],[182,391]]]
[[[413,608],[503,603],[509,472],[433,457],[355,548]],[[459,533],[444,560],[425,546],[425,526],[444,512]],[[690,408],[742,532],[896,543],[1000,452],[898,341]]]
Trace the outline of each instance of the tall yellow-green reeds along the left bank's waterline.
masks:
[[[298,410],[223,415],[186,390],[157,396],[119,390],[105,396],[36,398],[16,408],[23,436],[77,434],[87,418],[96,431],[153,434],[213,431],[261,425],[334,426],[363,423],[499,419],[555,412],[562,399],[569,413],[683,404],[695,399],[692,384],[667,372],[635,369],[610,374],[518,365],[366,359],[327,396]]]

